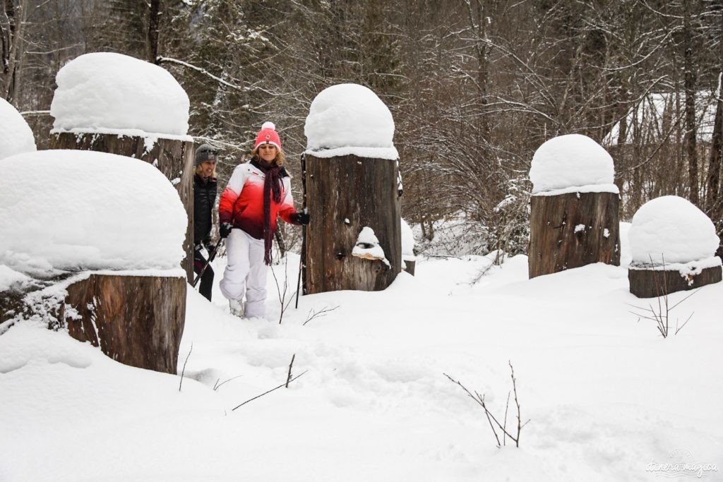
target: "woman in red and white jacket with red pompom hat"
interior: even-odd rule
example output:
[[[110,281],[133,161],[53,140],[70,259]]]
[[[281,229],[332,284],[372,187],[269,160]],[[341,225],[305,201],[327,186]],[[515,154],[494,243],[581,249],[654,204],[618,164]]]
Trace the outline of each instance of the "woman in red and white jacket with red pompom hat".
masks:
[[[251,160],[234,169],[218,205],[219,228],[226,240],[228,264],[220,287],[231,313],[254,318],[265,314],[266,270],[276,218],[308,224],[309,215],[296,212],[291,178],[283,168],[281,139],[273,123],[265,122],[256,137]],[[244,311],[244,295],[246,305]]]

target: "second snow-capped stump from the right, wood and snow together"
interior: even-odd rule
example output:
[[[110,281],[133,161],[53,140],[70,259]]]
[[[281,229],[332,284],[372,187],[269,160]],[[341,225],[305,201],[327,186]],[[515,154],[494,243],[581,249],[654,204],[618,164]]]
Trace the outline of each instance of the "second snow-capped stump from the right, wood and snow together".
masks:
[[[530,170],[529,277],[586,264],[620,264],[620,196],[612,158],[579,134],[555,137]]]

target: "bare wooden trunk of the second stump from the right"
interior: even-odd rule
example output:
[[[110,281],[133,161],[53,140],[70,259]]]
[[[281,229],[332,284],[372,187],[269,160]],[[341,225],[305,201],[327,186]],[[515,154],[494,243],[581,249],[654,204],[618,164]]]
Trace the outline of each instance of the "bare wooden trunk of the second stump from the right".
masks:
[[[612,192],[531,197],[529,277],[596,262],[620,265],[619,203]]]

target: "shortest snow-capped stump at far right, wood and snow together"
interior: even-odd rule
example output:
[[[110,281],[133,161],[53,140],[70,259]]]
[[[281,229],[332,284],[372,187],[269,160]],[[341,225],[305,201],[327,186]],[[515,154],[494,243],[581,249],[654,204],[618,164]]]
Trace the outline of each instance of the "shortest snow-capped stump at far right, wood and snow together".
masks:
[[[654,298],[719,283],[718,246],[713,222],[687,199],[663,196],[646,202],[630,226],[630,293]]]

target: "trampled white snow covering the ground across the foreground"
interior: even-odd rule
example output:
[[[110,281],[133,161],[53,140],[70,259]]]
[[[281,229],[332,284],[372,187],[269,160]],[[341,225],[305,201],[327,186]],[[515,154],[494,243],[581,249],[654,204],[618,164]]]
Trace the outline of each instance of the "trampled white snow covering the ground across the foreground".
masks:
[[[271,276],[268,320],[231,317],[218,287],[212,304],[189,291],[181,391],[16,324],[0,336],[0,481],[652,481],[673,462],[723,480],[723,283],[677,306],[673,324],[695,314],[662,339],[630,314],[649,301],[628,293],[623,248],[623,267],[533,280],[526,257],[419,257],[415,277],[302,296],[281,324]],[[294,354],[303,376],[233,410],[285,382]],[[502,418],[510,361],[530,421],[500,449],[444,374]]]

